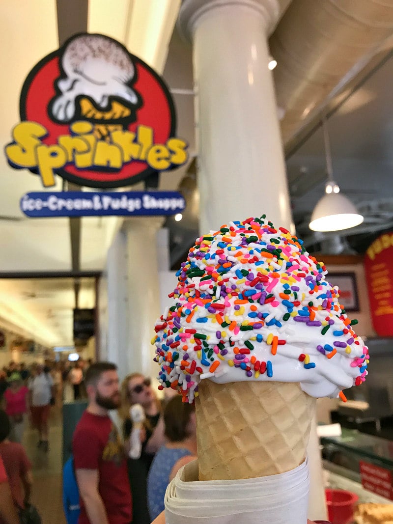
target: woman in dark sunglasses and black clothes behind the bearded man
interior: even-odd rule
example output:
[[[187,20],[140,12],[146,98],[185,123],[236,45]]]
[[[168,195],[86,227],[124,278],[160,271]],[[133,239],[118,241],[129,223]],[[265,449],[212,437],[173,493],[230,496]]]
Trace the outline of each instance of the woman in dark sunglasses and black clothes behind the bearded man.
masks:
[[[139,459],[128,459],[128,476],[133,495],[133,524],[149,524],[147,506],[147,474],[155,453],[164,443],[162,407],[150,385],[150,379],[140,373],[128,375],[121,387],[122,406],[119,416],[123,420],[124,438],[133,429],[129,409],[140,404],[145,412],[144,428],[140,433],[142,452]]]

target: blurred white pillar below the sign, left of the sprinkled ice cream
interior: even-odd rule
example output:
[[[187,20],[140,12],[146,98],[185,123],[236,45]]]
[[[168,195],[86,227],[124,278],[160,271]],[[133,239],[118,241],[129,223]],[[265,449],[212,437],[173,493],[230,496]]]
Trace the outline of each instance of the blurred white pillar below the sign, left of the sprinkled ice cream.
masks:
[[[162,313],[158,272],[168,264],[161,224],[161,217],[128,219],[108,250],[100,286],[101,359],[117,365],[121,380],[135,372],[157,376],[150,341]]]

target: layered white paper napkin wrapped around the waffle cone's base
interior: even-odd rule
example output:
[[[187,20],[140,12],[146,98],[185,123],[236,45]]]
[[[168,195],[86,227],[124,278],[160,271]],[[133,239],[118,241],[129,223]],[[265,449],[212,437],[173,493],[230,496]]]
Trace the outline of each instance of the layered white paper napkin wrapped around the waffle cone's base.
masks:
[[[166,524],[307,524],[308,461],[296,470],[238,481],[198,481],[187,464],[165,494]]]

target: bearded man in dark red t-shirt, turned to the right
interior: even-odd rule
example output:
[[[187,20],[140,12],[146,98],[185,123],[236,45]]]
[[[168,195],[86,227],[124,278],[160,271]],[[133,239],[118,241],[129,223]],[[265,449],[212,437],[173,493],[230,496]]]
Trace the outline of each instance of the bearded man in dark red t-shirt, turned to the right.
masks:
[[[93,364],[86,372],[85,385],[89,405],[72,439],[81,496],[78,524],[130,524],[132,497],[126,457],[108,415],[121,402],[116,365]]]

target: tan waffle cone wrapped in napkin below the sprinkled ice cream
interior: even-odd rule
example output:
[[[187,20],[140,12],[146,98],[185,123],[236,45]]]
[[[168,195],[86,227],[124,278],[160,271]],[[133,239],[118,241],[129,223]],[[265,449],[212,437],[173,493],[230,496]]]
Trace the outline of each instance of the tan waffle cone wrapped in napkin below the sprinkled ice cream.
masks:
[[[234,480],[299,466],[315,399],[297,383],[202,380],[195,410],[200,481]]]

